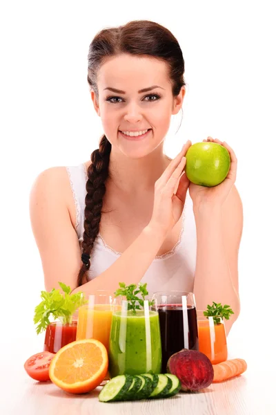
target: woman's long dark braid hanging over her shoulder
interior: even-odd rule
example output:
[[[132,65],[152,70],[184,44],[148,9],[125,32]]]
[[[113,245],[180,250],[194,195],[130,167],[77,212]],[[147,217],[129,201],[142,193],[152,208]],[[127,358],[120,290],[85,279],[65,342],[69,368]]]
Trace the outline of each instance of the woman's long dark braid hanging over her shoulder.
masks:
[[[106,179],[108,178],[108,165],[110,158],[111,145],[106,136],[101,138],[99,149],[91,154],[91,164],[88,167],[88,181],[86,182],[86,208],[84,210],[84,232],[81,244],[83,254],[90,256],[94,241],[99,233],[99,223],[101,221],[101,210],[103,207],[103,196],[106,193]],[[86,271],[90,268],[88,264],[83,264],[79,270],[77,279],[78,286],[85,284]]]

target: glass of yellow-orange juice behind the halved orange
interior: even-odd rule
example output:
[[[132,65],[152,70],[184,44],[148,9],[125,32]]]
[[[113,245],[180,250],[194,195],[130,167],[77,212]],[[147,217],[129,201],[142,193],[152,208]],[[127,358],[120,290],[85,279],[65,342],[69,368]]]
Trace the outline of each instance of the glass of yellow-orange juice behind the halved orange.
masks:
[[[88,304],[79,307],[76,340],[95,339],[109,350],[110,328],[113,311],[119,311],[121,296],[110,295],[109,291],[97,290],[88,296]],[[109,372],[101,385],[110,380]]]

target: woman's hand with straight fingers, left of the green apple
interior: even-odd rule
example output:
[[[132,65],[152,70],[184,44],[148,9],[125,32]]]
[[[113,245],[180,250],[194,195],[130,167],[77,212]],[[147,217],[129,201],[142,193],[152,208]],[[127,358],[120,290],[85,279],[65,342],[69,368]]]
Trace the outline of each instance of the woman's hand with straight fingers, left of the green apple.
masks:
[[[185,155],[190,145],[188,140],[155,182],[155,200],[148,226],[163,230],[165,234],[175,226],[183,212],[190,183],[184,174]]]

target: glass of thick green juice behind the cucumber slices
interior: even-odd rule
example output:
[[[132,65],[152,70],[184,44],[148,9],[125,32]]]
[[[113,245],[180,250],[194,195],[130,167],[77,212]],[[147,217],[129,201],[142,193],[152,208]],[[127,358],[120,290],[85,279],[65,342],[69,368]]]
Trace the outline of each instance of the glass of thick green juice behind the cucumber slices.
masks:
[[[148,300],[122,300],[121,309],[113,311],[108,352],[110,378],[161,373],[159,315],[154,307]]]

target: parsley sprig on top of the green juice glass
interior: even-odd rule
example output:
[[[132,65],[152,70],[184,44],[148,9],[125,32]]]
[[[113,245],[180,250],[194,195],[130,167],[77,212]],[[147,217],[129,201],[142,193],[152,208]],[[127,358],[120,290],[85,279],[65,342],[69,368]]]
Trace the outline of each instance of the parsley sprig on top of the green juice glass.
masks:
[[[115,297],[122,295],[126,297],[128,301],[128,310],[131,310],[133,314],[136,314],[136,310],[141,310],[141,307],[144,307],[144,301],[148,291],[146,289],[147,283],[145,284],[130,284],[126,286],[124,282],[119,282],[120,288],[115,291]],[[142,298],[139,298],[138,295],[141,295]],[[135,304],[139,302],[139,304]],[[154,302],[149,301],[148,305],[152,306]]]

